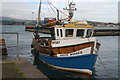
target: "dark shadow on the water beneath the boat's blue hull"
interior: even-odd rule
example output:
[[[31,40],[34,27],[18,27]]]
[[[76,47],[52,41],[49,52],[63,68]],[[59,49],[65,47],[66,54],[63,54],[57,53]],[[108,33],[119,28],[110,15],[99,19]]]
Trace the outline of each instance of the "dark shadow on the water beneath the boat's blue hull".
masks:
[[[55,78],[55,79],[56,78],[57,79],[77,78],[77,79],[80,79],[80,80],[81,79],[82,80],[90,79],[90,78],[88,78],[88,75],[85,75],[85,74],[69,72],[69,71],[64,71],[64,70],[60,70],[60,69],[50,67],[38,58],[34,58],[33,65],[37,69],[39,69],[44,75],[46,75],[49,79],[53,79],[53,78]]]

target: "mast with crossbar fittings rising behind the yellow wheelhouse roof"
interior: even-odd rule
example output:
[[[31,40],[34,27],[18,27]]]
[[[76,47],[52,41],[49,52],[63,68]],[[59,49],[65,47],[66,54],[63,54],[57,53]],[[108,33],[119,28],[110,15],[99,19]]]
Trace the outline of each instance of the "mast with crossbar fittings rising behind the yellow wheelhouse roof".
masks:
[[[68,22],[70,23],[72,17],[73,17],[73,11],[76,11],[77,9],[75,8],[75,4],[73,4],[73,1],[69,3],[68,1],[68,6],[69,8],[63,8],[64,10],[67,10],[69,12],[69,16],[68,16]]]

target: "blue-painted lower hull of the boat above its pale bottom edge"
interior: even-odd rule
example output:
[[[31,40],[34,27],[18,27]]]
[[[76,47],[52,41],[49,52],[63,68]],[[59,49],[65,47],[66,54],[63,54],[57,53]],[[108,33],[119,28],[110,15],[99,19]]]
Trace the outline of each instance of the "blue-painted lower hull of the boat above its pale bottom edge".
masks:
[[[38,58],[45,63],[70,69],[87,69],[92,71],[97,59],[96,54],[86,54],[72,57],[50,57],[42,54],[38,55]]]

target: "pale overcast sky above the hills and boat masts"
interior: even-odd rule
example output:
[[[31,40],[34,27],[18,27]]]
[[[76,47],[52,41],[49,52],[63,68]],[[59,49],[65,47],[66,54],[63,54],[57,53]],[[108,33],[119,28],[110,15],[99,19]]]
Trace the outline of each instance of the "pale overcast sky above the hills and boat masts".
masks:
[[[68,0],[42,0],[41,16],[56,16],[46,1],[51,2],[59,10],[67,6]],[[69,0],[72,1],[72,0]],[[119,0],[73,0],[77,11],[74,12],[73,20],[91,20],[100,22],[118,22]],[[2,16],[17,19],[36,19],[39,0],[3,0]],[[54,9],[55,10],[55,9]],[[34,14],[32,14],[34,12]],[[60,18],[65,16],[61,14]]]

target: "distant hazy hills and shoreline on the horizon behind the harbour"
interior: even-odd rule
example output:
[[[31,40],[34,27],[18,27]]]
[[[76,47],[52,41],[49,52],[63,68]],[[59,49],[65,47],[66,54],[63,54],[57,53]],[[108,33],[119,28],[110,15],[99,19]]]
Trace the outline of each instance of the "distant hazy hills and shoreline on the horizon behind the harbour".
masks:
[[[35,20],[22,20],[22,19],[15,19],[10,17],[0,17],[2,20],[0,24],[3,25],[35,25]],[[43,21],[42,21],[43,22]],[[105,23],[105,22],[97,22],[97,21],[87,21],[88,24],[93,25],[95,27],[118,27],[120,23]]]

